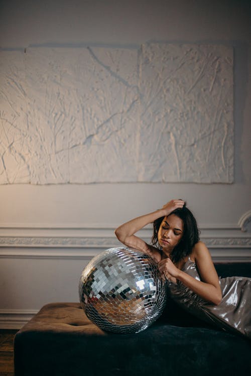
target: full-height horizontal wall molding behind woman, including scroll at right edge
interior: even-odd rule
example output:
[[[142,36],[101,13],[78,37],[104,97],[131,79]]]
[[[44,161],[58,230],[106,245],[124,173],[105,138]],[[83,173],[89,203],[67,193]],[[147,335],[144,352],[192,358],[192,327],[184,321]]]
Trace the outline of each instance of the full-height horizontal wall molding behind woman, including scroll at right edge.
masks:
[[[251,260],[251,234],[242,230],[249,216],[246,213],[242,217],[237,225],[207,224],[200,227],[201,240],[210,252],[214,251],[215,258],[219,250],[224,250],[224,257],[232,260],[230,250],[235,249],[238,257],[242,255],[243,260]],[[102,223],[0,224],[0,258],[88,260],[104,249],[121,245],[114,235],[115,227]],[[152,226],[144,227],[138,235],[150,242]]]

